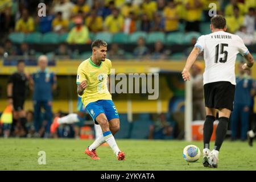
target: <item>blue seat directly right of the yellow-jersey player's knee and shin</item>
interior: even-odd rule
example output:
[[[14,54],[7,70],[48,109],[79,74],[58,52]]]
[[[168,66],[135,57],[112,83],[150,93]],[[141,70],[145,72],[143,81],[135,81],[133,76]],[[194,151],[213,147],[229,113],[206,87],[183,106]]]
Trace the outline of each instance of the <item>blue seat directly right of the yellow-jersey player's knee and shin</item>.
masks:
[[[120,130],[115,134],[115,138],[130,138],[131,123],[127,120],[127,114],[119,114]]]

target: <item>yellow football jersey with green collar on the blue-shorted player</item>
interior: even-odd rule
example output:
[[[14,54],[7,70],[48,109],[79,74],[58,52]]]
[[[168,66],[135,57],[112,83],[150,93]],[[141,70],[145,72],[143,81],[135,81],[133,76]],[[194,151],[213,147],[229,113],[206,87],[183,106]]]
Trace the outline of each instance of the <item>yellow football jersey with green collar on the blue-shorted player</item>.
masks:
[[[110,75],[111,68],[112,63],[109,59],[101,61],[100,66],[94,64],[90,58],[79,65],[76,84],[87,80],[87,87],[84,90],[84,94],[82,94],[84,106],[98,100],[112,100],[108,90],[108,75]]]

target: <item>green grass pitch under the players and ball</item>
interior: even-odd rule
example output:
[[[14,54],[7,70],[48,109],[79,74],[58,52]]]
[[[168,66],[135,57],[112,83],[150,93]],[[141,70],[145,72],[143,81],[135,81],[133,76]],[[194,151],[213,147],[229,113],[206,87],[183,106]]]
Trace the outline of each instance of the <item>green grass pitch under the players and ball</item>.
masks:
[[[97,149],[100,160],[92,160],[84,150],[92,140],[75,139],[0,139],[0,170],[256,170],[256,143],[224,141],[217,169],[205,168],[202,155],[196,163],[182,158],[183,148],[202,142],[178,140],[117,140],[126,153],[118,161],[109,146]],[[212,143],[213,146],[213,143]],[[39,165],[39,151],[46,152],[46,165]]]

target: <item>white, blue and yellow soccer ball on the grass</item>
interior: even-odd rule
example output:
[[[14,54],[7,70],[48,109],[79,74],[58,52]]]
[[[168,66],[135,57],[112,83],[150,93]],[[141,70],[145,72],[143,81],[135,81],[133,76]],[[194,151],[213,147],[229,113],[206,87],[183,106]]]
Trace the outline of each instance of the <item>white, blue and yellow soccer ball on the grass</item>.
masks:
[[[200,149],[193,144],[186,146],[183,150],[183,158],[190,163],[196,162],[200,158]]]

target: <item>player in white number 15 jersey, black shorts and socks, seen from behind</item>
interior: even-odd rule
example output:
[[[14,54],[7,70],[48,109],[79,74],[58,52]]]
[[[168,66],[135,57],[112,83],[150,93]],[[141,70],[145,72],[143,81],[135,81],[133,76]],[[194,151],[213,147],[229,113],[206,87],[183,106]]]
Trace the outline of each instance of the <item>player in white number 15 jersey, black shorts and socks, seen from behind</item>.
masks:
[[[234,91],[236,87],[235,64],[237,53],[246,59],[243,69],[253,67],[254,59],[242,39],[238,35],[226,31],[224,16],[215,15],[210,20],[211,34],[202,35],[197,39],[195,47],[188,56],[182,72],[184,81],[190,80],[189,69],[200,52],[204,52],[204,98],[206,119],[204,122],[203,165],[217,168],[218,154],[226,131],[230,113],[233,110]],[[213,122],[218,109],[218,126],[214,149],[209,150],[210,138],[213,133]]]

